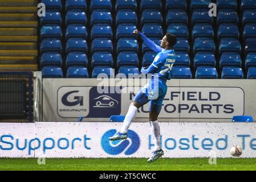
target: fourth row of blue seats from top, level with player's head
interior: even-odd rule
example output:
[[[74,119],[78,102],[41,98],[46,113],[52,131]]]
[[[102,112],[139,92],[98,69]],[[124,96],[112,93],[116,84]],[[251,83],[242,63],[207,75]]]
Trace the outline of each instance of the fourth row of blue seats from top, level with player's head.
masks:
[[[159,39],[153,39],[155,42],[159,43]],[[256,38],[246,39],[245,42],[245,55],[249,52],[255,52]],[[190,46],[187,39],[178,38],[176,45],[174,46],[174,50],[177,52],[190,52]],[[60,39],[55,38],[46,38],[43,39],[40,44],[40,53],[54,51],[54,52],[63,52],[63,47]],[[72,51],[82,51],[87,53],[88,46],[87,42],[83,38],[70,38],[66,42],[66,53]],[[113,53],[113,43],[111,39],[108,38],[95,38],[91,44],[91,53],[97,51],[107,51]],[[138,53],[139,52],[139,44],[137,39],[134,38],[120,38],[116,45],[116,53],[119,54],[121,51],[133,51]],[[143,46],[143,53],[148,51],[148,48],[144,44]],[[198,52],[210,52],[216,53],[216,46],[213,39],[209,38],[196,38],[193,44],[193,53],[196,55]],[[219,44],[218,52],[220,55],[224,52],[235,52],[238,55],[241,55],[241,44],[239,43],[238,39],[233,38],[222,38]]]

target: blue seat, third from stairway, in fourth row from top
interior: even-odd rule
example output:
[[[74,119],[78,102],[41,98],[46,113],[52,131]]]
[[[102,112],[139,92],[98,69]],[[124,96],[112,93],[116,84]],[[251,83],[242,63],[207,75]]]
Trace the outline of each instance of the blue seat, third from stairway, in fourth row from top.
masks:
[[[96,51],[107,51],[113,52],[113,44],[110,39],[94,39],[92,41],[91,52],[94,53]]]

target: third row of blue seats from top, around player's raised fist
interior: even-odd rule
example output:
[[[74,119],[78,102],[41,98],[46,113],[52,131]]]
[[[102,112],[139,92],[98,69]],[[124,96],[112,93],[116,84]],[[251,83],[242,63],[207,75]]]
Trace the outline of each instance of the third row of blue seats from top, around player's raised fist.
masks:
[[[116,29],[116,40],[119,38],[136,38],[133,31],[136,30],[135,24],[120,24]],[[151,38],[161,39],[163,36],[163,30],[161,26],[154,24],[145,24],[142,28],[142,32]],[[167,32],[170,32],[181,38],[189,38],[188,27],[178,24],[170,24],[167,28]],[[256,36],[256,23],[246,25],[243,28],[243,39],[254,38]],[[87,28],[84,25],[70,24],[66,28],[66,40],[68,38],[84,38],[87,39]],[[213,26],[207,24],[196,24],[192,30],[192,39],[198,37],[214,38]],[[238,26],[232,24],[221,24],[217,31],[217,38],[239,38]],[[40,31],[41,40],[44,38],[59,38],[62,39],[62,28],[59,26],[43,26]],[[104,24],[96,24],[91,29],[91,40],[94,38],[113,38],[113,30],[111,26]]]

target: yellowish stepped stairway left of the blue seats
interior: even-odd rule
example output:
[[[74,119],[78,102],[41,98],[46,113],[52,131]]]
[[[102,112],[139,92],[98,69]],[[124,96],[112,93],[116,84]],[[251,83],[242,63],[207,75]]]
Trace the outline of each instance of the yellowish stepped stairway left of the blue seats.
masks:
[[[0,1],[0,71],[36,71],[38,0]]]

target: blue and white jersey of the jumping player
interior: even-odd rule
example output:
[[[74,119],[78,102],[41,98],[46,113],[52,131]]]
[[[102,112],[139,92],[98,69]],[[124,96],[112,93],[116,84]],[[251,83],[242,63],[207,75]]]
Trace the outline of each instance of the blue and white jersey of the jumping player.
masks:
[[[175,53],[173,49],[162,49],[157,53],[152,65],[157,68],[153,76],[159,77],[160,80],[170,80],[171,70],[175,63]]]

